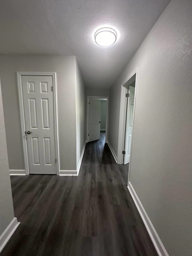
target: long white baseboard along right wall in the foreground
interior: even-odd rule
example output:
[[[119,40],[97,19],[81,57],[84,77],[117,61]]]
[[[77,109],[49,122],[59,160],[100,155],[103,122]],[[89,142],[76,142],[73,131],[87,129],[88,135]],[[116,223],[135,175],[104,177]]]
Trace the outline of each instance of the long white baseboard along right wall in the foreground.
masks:
[[[159,256],[169,256],[167,253],[163,243],[161,242],[160,237],[158,236],[157,231],[155,230],[155,227],[153,226],[149,216],[147,215],[141,201],[139,200],[139,197],[137,196],[133,186],[131,183],[128,183],[128,190],[134,200],[135,205],[137,206],[137,210],[139,211],[141,218],[143,220],[143,223],[146,226],[146,229],[149,233],[149,236],[152,239],[153,245],[155,246],[155,249]]]

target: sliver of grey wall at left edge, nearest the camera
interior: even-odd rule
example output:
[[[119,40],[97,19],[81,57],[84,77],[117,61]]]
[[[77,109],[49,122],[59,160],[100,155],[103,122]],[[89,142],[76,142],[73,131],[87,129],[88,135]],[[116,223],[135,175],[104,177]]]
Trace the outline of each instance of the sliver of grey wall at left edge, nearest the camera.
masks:
[[[14,218],[0,84],[0,236]]]

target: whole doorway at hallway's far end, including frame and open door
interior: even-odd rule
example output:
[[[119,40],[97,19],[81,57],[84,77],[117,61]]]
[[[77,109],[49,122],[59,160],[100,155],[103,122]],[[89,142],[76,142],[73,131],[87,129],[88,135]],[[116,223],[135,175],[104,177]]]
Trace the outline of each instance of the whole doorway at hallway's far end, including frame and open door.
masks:
[[[108,134],[108,97],[87,97],[87,142],[105,140]]]

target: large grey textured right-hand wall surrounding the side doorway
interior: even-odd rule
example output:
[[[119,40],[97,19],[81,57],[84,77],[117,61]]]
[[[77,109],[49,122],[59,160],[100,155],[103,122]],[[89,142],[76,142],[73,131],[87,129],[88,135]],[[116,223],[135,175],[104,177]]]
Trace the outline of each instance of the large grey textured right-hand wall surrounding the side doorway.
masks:
[[[121,84],[138,67],[130,182],[170,256],[192,251],[191,14],[172,0],[110,90],[117,154]]]

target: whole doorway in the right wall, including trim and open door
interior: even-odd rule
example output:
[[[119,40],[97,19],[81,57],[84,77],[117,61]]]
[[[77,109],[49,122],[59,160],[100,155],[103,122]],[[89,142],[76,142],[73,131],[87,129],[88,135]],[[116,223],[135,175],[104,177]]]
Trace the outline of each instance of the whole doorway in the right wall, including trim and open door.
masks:
[[[128,164],[130,169],[137,89],[137,69],[128,77],[121,89],[119,118],[118,164]]]

